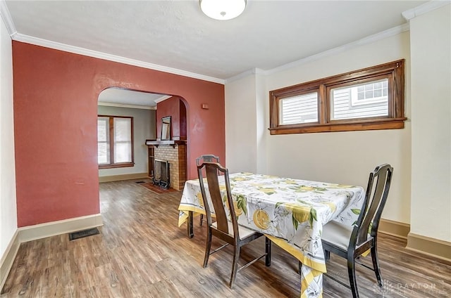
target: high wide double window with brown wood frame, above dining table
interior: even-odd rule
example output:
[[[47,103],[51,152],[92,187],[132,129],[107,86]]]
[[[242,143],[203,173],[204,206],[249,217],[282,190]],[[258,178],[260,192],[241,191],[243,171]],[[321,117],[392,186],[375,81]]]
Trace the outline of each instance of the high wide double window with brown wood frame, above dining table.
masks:
[[[271,134],[404,128],[404,60],[269,92]]]

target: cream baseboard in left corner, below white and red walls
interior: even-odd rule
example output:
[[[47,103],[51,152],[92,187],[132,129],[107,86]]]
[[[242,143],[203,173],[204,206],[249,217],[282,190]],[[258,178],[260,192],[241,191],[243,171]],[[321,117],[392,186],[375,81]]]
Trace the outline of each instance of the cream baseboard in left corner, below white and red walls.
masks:
[[[101,214],[80,216],[73,219],[63,219],[61,221],[51,221],[45,224],[18,228],[0,261],[0,292],[6,282],[8,273],[13,266],[14,259],[16,259],[20,243],[54,235],[82,231],[88,228],[96,228],[98,226],[103,226]]]

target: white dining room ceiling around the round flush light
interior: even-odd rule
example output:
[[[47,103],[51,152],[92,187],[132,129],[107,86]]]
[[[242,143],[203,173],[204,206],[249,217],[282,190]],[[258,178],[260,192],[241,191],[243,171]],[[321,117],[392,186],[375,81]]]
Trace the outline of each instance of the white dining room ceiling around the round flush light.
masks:
[[[403,25],[402,12],[425,2],[247,0],[242,15],[223,21],[204,15],[197,0],[8,0],[6,6],[13,39],[226,82]]]

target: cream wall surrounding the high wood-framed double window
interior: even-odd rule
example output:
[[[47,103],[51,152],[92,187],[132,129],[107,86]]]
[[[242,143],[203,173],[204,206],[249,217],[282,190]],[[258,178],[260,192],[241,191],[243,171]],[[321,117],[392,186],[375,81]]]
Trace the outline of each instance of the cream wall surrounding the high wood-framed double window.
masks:
[[[266,164],[266,174],[288,176],[314,181],[350,183],[366,187],[369,172],[378,164],[388,162],[395,171],[392,188],[383,218],[409,223],[410,221],[410,172],[411,125],[404,129],[381,131],[350,131],[317,134],[291,134],[271,136],[269,127],[268,92],[293,84],[329,77],[351,70],[358,70],[401,58],[406,59],[405,114],[410,117],[410,65],[409,32],[387,37],[335,53],[331,56],[292,67],[289,70],[269,74],[264,84],[265,112],[255,108],[259,91],[253,91],[254,79],[243,79],[226,84],[226,152],[228,165],[247,158],[242,168],[254,171],[257,164]],[[254,76],[257,77],[257,76]],[[249,94],[251,93],[251,94]],[[254,96],[252,97],[252,93]],[[261,97],[261,96],[260,96]],[[258,101],[257,101],[258,102]],[[259,105],[263,106],[263,104]],[[254,110],[252,110],[252,108]],[[266,157],[254,155],[257,146],[255,119],[266,126],[263,140]],[[240,129],[241,128],[241,129]],[[236,131],[238,136],[230,136]],[[250,141],[249,141],[250,140]],[[249,145],[249,148],[243,144]],[[261,161],[261,159],[266,159]],[[254,163],[254,164],[252,164]],[[264,167],[259,167],[264,169]],[[261,171],[263,174],[264,171]]]

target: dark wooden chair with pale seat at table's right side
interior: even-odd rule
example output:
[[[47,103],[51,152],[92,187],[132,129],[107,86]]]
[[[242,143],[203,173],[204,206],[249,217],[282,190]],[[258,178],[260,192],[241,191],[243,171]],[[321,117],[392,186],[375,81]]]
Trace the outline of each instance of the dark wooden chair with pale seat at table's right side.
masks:
[[[330,257],[330,252],[347,259],[347,272],[350,278],[350,285],[325,273],[326,276],[349,288],[352,297],[359,297],[357,290],[357,280],[355,276],[355,264],[364,252],[371,251],[373,268],[361,264],[376,273],[379,287],[382,287],[381,270],[379,268],[377,240],[378,226],[385,202],[387,201],[388,190],[392,179],[393,167],[390,164],[382,164],[369,174],[368,187],[366,188],[365,200],[354,226],[347,226],[336,221],[330,221],[323,226],[321,240],[326,260]]]

